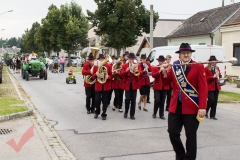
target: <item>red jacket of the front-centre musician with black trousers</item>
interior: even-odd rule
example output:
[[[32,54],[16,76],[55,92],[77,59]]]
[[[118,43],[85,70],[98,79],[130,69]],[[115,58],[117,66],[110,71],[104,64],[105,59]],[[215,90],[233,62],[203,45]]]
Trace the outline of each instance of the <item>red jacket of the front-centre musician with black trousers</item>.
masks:
[[[121,77],[123,78],[122,80],[122,89],[129,91],[130,89],[130,80],[132,80],[132,89],[133,90],[137,90],[141,88],[140,85],[140,79],[139,77],[142,75],[142,71],[141,68],[139,68],[138,66],[138,70],[140,72],[139,76],[134,76],[133,73],[131,73],[130,71],[126,72],[127,68],[129,67],[129,63],[126,63],[122,66],[122,71],[120,73]]]

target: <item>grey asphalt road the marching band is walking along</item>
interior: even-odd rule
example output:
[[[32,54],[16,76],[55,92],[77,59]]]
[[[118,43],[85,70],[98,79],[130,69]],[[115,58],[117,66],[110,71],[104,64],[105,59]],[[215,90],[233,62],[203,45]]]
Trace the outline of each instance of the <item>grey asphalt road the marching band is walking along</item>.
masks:
[[[153,93],[149,112],[136,109],[136,120],[108,107],[107,120],[94,119],[85,109],[83,78],[66,84],[67,73],[48,72],[48,80],[15,74],[32,102],[79,160],[174,160],[167,120],[153,119]],[[114,95],[114,94],[113,94]],[[139,93],[138,93],[139,96]],[[165,112],[167,117],[167,112]],[[206,119],[198,131],[197,160],[239,160],[240,105],[219,104],[218,120]],[[183,129],[184,130],[184,129]],[[182,139],[185,141],[184,131]]]

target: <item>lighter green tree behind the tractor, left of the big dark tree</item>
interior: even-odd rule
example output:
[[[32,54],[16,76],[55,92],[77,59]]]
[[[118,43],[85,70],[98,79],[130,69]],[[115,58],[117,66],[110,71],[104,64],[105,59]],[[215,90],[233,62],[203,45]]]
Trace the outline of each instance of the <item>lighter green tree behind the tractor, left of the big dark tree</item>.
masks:
[[[54,11],[58,17],[55,25],[54,37],[60,48],[70,54],[75,54],[79,46],[88,45],[88,21],[82,13],[82,8],[74,1],[70,4],[61,5],[59,10]],[[56,20],[56,19],[55,19]],[[69,65],[71,61],[69,61]]]

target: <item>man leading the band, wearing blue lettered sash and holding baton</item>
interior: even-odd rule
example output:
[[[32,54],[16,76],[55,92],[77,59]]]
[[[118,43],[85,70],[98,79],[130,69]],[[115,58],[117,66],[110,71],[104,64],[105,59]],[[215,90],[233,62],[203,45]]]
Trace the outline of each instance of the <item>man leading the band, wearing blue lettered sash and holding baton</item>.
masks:
[[[168,132],[176,159],[195,160],[197,156],[197,129],[199,121],[196,116],[204,117],[206,114],[207,83],[204,66],[191,59],[192,52],[188,43],[182,43],[179,51],[179,60],[175,61],[163,78],[164,85],[172,83],[172,99],[168,114]],[[177,66],[179,64],[186,64]],[[166,71],[168,64],[163,64],[162,71]],[[186,134],[186,152],[182,144],[180,133],[182,127]]]

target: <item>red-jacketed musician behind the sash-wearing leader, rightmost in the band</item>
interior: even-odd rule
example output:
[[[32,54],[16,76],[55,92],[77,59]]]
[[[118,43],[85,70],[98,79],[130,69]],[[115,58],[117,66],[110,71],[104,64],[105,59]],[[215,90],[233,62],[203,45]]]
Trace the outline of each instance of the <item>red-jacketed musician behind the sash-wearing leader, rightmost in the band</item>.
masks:
[[[220,72],[219,67],[216,66],[217,61],[215,56],[210,56],[209,62],[212,63],[208,64],[204,69],[207,78],[207,85],[208,85],[208,101],[207,101],[207,114],[206,118],[208,118],[208,111],[211,108],[210,118],[217,120],[216,118],[216,110],[217,110],[217,102],[218,102],[218,94],[221,87],[219,86],[218,79],[222,78],[222,74]]]

